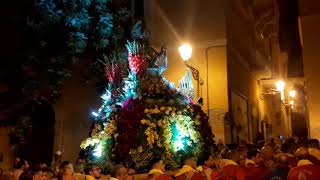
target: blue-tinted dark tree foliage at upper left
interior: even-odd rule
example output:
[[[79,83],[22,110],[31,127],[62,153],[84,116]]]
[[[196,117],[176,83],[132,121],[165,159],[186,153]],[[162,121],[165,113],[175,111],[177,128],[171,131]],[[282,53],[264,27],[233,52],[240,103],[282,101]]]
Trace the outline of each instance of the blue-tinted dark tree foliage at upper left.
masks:
[[[96,59],[115,51],[120,54],[119,44],[128,39],[130,13],[110,0],[37,0],[34,6],[37,11],[27,18],[27,25],[41,47],[34,47],[29,53],[32,58],[28,66],[33,71],[38,71],[33,66],[48,69],[38,73],[48,79],[26,80],[28,95],[37,92],[33,95],[43,96],[38,89],[45,82],[50,89],[49,100],[55,101],[62,93],[63,81],[71,75],[72,65],[84,54],[93,59],[88,71],[91,74],[86,76],[100,78],[103,66]]]

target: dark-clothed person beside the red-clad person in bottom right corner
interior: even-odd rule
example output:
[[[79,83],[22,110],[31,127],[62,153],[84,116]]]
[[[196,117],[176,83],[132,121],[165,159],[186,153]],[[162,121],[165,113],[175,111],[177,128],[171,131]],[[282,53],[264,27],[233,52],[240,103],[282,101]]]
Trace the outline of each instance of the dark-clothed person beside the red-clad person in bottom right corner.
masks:
[[[270,171],[263,180],[286,180],[289,172],[289,158],[286,153],[280,153],[276,156],[276,167]]]

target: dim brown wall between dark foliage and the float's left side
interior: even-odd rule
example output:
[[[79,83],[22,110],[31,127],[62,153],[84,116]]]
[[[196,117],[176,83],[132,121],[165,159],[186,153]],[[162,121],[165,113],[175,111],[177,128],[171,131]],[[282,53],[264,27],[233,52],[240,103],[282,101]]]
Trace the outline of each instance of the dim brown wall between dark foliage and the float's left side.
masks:
[[[83,85],[83,67],[72,73],[65,82],[64,92],[54,106],[56,114],[54,151],[60,150],[63,159],[75,161],[80,142],[88,138],[91,130],[91,111],[99,107],[99,94],[94,86]]]

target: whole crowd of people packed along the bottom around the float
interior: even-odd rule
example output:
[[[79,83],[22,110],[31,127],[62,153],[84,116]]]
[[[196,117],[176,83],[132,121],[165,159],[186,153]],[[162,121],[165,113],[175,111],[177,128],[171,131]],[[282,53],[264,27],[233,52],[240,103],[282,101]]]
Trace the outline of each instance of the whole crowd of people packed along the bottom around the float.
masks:
[[[50,166],[29,165],[16,158],[13,169],[2,172],[1,180],[320,180],[320,145],[317,139],[277,138],[256,144],[217,145],[218,151],[197,159],[191,154],[181,157],[181,168],[166,171],[160,158],[150,161],[149,172],[138,174],[122,164],[113,165],[105,175],[95,163],[77,159],[72,164],[54,154]]]

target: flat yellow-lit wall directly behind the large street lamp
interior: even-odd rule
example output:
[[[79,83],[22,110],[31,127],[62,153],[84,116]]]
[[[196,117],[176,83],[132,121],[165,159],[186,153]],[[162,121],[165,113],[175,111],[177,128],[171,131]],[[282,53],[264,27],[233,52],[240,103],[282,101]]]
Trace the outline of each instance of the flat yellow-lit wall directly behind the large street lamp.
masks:
[[[203,110],[209,114],[216,140],[225,139],[224,116],[228,111],[224,6],[223,0],[145,1],[145,20],[152,45],[167,46],[169,63],[164,76],[176,86],[186,73],[178,47],[184,41],[192,44],[192,59],[188,63],[199,70],[204,81],[200,88]],[[197,89],[195,81],[194,88]]]

